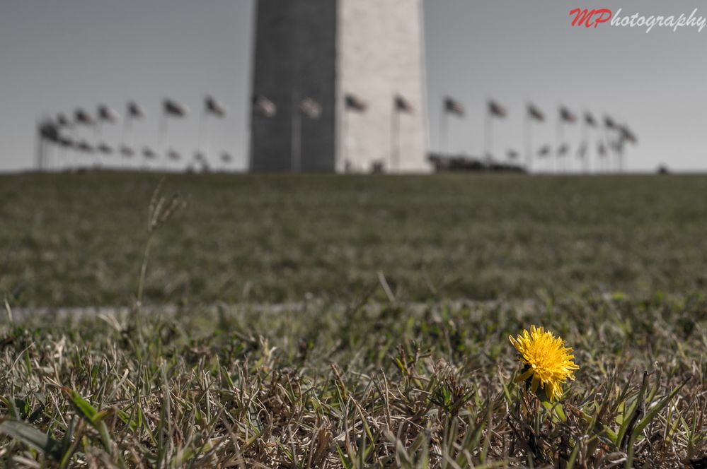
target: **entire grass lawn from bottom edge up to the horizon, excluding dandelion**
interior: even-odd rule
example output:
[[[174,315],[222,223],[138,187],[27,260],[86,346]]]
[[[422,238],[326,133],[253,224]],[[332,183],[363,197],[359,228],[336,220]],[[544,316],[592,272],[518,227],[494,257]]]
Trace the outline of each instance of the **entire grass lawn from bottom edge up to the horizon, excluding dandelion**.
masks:
[[[158,184],[0,177],[0,467],[707,461],[707,177]],[[555,407],[531,324],[580,365]]]

